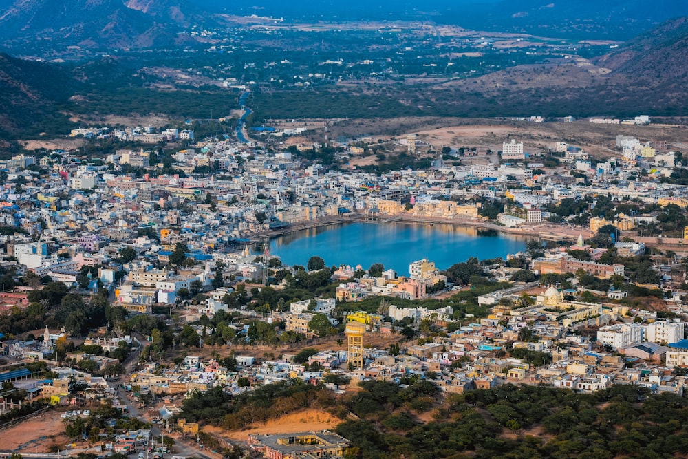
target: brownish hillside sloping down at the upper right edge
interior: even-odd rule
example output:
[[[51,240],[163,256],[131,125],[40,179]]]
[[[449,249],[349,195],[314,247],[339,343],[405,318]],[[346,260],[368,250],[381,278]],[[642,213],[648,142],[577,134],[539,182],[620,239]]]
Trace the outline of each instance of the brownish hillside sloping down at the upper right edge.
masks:
[[[685,81],[687,62],[688,16],[667,21],[597,60],[616,74],[667,82]]]

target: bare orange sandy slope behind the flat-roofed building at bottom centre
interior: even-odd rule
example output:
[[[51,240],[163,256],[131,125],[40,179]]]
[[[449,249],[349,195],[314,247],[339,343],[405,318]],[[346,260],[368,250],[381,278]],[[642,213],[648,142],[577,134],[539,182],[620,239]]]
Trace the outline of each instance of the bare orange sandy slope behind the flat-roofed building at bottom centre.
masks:
[[[287,414],[264,424],[250,425],[246,430],[226,431],[221,427],[203,427],[208,434],[226,438],[234,442],[248,441],[248,434],[291,434],[296,432],[331,430],[342,422],[319,409],[305,409],[302,412]]]

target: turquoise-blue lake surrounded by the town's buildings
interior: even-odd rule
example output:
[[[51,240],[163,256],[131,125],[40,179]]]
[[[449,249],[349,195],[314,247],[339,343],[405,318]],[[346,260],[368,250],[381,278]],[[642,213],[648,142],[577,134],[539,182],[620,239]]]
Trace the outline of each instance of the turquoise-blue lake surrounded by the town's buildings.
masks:
[[[435,261],[438,269],[469,257],[503,257],[526,248],[526,239],[451,224],[347,223],[298,231],[270,241],[270,253],[283,264],[305,266],[314,255],[327,266],[374,263],[408,275],[409,264],[422,258]]]

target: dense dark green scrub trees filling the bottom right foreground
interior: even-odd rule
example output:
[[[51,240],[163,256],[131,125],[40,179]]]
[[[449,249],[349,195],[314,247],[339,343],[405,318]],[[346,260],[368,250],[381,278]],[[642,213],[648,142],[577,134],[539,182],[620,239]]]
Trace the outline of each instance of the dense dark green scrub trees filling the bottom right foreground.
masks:
[[[407,389],[377,382],[363,389],[345,400],[361,420],[336,428],[352,442],[348,458],[671,458],[688,447],[688,402],[633,385],[596,394],[505,385],[451,395],[425,424],[403,402]]]

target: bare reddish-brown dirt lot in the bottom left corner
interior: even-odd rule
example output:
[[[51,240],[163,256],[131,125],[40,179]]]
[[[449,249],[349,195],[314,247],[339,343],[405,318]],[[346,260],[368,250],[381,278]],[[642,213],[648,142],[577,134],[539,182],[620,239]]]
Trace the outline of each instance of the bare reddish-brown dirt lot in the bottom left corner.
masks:
[[[0,449],[20,453],[48,453],[50,445],[65,449],[68,438],[60,415],[49,411],[0,432]]]

